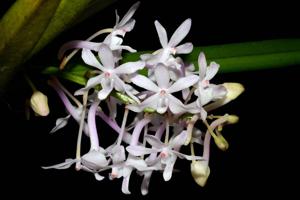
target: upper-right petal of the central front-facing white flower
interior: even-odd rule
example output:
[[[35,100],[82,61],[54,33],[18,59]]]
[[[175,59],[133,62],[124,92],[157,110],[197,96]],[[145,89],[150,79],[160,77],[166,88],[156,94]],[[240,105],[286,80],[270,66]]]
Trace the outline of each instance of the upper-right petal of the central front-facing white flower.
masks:
[[[199,77],[196,75],[190,75],[183,78],[179,78],[171,87],[168,88],[169,93],[178,92],[180,90],[189,88],[197,83]]]

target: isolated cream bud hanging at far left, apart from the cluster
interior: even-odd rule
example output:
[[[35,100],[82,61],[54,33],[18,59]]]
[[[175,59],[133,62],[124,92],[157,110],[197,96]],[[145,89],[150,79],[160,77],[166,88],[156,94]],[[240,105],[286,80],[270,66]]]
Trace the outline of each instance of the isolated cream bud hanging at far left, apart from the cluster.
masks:
[[[30,98],[30,106],[32,110],[39,116],[47,116],[49,114],[48,98],[40,91],[35,91]]]

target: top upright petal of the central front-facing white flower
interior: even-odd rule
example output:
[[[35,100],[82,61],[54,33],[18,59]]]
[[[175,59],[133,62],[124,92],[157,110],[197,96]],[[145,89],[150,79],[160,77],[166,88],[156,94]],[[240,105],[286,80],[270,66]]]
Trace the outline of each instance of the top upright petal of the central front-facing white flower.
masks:
[[[167,67],[159,63],[154,69],[154,75],[158,87],[167,89],[170,82],[170,74]]]

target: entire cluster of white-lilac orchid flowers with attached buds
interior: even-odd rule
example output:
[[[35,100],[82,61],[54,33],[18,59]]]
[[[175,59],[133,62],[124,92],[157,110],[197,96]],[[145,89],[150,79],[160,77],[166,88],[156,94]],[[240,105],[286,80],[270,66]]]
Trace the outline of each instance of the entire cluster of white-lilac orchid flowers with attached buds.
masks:
[[[145,195],[153,172],[161,171],[168,181],[176,160],[185,159],[191,162],[195,181],[204,186],[210,174],[211,137],[217,147],[226,150],[228,143],[221,130],[224,125],[238,121],[235,115],[208,113],[235,99],[243,86],[211,83],[220,66],[215,62],[208,64],[204,53],[199,55],[198,66],[187,64],[178,56],[193,50],[192,43],[180,44],[191,28],[191,19],[185,20],[170,39],[165,28],[155,21],[162,47],[152,54],[141,55],[138,61],[122,62],[123,50],[135,52],[123,45],[123,38],[135,25],[132,16],[138,6],[139,3],[134,4],[121,20],[116,14],[112,29],[103,29],[87,41],[71,41],[61,48],[61,58],[69,49],[77,49],[64,58],[62,65],[81,50],[83,62],[93,68],[93,73],[85,87],[74,93],[78,98],[58,79],[49,81],[68,112],[67,117],[56,121],[51,133],[63,128],[70,118],[78,122],[79,131],[76,157],[43,168],[66,169],[75,164],[77,170],[91,172],[99,181],[104,178],[104,171],[110,171],[110,180],[123,179],[125,194],[130,194],[129,180],[136,170],[143,176],[141,192]],[[107,36],[102,42],[91,41],[104,33]],[[199,70],[195,70],[197,67]],[[141,75],[141,70],[147,75]],[[117,107],[124,110],[120,121]],[[130,122],[129,112],[136,113]],[[108,147],[99,143],[96,120],[107,123],[118,133],[116,141]],[[90,139],[90,150],[81,154],[83,133]],[[182,147],[187,145],[190,153],[185,154]],[[196,155],[194,145],[203,145],[203,152]]]

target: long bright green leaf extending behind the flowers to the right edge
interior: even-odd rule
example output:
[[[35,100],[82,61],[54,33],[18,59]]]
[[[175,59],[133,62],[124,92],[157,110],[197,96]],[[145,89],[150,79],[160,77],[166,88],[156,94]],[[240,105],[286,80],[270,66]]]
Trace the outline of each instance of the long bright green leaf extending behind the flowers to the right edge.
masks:
[[[209,61],[221,65],[220,72],[239,72],[300,64],[300,39],[278,39],[243,42],[204,47],[195,47],[189,55],[183,55],[185,62],[198,68],[198,56],[203,51]],[[136,61],[141,54],[150,51],[125,54],[123,62]]]

